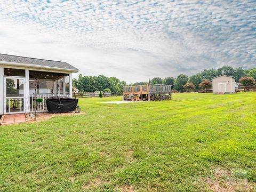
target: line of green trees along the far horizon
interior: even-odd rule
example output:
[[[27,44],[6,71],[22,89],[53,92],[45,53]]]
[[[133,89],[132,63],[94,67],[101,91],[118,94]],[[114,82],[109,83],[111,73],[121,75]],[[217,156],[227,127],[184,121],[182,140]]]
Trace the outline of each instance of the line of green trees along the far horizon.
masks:
[[[233,68],[230,66],[223,66],[218,69],[204,69],[200,73],[188,77],[185,74],[180,74],[177,78],[174,77],[154,77],[150,83],[172,85],[174,90],[182,89],[207,89],[211,88],[211,79],[219,75],[234,76],[236,82],[242,85],[255,85],[256,68],[243,69],[242,67]],[[145,85],[148,82],[136,82],[130,85]],[[99,76],[83,76],[73,79],[73,87],[76,87],[79,92],[94,92],[94,91],[110,91],[115,94],[123,92],[125,81],[120,81],[116,77]]]

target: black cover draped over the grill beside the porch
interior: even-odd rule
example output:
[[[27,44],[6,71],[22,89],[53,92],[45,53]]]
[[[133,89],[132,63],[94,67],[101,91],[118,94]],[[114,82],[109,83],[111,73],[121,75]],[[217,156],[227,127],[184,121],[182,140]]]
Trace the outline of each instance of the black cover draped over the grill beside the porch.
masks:
[[[76,109],[78,99],[52,97],[46,99],[46,106],[51,113],[65,113]]]

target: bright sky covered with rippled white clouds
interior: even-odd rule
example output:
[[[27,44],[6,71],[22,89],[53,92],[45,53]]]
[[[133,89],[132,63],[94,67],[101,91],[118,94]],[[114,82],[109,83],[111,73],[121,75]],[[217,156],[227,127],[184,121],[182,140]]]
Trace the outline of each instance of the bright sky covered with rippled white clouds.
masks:
[[[256,67],[256,1],[0,3],[0,53],[66,61],[127,83]]]

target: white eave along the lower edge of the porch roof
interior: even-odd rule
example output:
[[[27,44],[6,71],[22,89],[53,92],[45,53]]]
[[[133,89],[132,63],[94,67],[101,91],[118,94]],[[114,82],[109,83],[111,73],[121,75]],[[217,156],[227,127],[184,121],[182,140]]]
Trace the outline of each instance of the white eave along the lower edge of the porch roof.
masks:
[[[17,66],[17,67],[34,67],[34,68],[41,68],[41,69],[55,69],[55,70],[63,70],[69,71],[71,73],[77,73],[78,69],[67,69],[67,68],[60,68],[60,67],[49,67],[49,66],[41,66],[35,64],[28,64],[28,63],[17,63],[17,62],[7,62],[7,61],[0,61],[0,65],[10,65],[10,66]]]

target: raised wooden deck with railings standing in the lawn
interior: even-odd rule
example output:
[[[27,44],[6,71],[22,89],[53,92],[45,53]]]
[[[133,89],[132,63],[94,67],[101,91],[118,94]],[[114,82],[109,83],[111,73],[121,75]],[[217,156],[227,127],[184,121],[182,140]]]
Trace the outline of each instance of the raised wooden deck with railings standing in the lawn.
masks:
[[[172,85],[149,83],[123,87],[123,100],[166,100],[171,99],[171,94]]]

